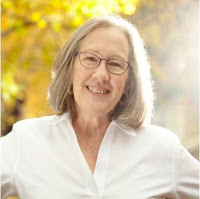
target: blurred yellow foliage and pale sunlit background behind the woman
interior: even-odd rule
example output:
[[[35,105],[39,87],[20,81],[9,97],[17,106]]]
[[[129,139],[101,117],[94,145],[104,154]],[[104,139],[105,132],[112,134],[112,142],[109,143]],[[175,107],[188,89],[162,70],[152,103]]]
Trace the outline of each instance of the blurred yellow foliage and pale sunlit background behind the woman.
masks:
[[[2,0],[2,136],[23,118],[55,114],[46,100],[59,49],[90,17],[116,13],[144,39],[155,81],[153,124],[199,158],[198,0]]]

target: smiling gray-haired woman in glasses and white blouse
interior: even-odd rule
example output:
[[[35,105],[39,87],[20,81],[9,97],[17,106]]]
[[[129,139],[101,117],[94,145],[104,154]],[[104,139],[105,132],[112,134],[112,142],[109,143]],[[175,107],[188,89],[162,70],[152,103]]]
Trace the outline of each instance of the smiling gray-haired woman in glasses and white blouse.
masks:
[[[198,198],[198,162],[175,134],[148,124],[153,92],[134,26],[87,21],[52,73],[59,114],[17,122],[1,140],[3,198]]]

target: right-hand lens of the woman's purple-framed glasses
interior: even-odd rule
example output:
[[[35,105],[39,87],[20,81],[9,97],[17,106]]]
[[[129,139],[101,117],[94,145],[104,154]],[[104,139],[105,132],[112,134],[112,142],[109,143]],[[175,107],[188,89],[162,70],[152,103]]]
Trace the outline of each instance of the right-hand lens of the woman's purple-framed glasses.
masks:
[[[107,64],[108,70],[115,74],[122,74],[128,68],[128,63],[121,60],[109,60]]]

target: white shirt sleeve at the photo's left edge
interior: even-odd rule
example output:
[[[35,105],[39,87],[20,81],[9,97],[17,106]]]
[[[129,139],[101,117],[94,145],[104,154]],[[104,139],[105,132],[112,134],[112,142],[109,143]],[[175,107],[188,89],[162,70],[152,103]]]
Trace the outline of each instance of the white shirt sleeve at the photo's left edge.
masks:
[[[15,130],[0,139],[1,144],[1,197],[18,196],[14,175],[18,160],[18,138]]]

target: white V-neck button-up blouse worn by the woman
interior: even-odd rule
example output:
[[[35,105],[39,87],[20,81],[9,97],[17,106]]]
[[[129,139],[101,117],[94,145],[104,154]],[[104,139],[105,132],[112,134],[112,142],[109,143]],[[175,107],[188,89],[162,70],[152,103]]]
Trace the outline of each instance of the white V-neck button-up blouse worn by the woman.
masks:
[[[93,174],[68,113],[17,122],[1,148],[3,199],[199,198],[198,161],[158,126],[112,121]]]

